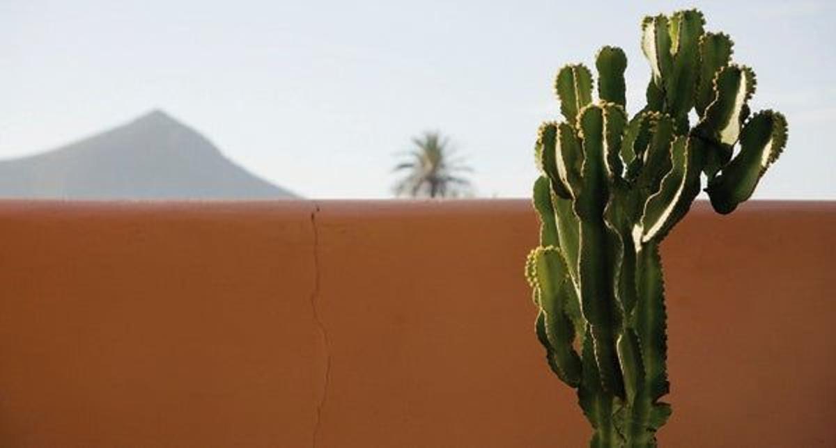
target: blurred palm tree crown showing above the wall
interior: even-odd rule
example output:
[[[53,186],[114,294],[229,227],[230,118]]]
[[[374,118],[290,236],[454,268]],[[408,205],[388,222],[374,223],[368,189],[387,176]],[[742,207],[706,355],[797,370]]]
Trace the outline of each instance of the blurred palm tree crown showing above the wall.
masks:
[[[454,158],[455,150],[450,147],[449,138],[426,132],[412,138],[412,143],[413,149],[405,153],[408,160],[394,169],[408,170],[405,178],[395,184],[396,196],[456,198],[471,193],[470,181],[457,174],[472,169],[461,158]]]

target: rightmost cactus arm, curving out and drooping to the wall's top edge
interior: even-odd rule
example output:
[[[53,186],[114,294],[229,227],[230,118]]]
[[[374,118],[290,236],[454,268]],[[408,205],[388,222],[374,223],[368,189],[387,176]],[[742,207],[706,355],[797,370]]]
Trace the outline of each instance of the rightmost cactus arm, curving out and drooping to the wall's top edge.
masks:
[[[787,144],[787,119],[771,110],[757,113],[743,128],[740,143],[740,154],[706,189],[711,205],[721,214],[731,213],[752,196],[758,180]]]

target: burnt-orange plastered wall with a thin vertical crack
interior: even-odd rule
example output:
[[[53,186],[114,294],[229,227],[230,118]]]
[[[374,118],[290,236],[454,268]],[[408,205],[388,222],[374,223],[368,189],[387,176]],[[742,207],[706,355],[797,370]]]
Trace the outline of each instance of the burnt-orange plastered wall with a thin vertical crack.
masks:
[[[836,445],[836,203],[663,246],[662,446]],[[0,445],[582,446],[527,201],[0,202]]]

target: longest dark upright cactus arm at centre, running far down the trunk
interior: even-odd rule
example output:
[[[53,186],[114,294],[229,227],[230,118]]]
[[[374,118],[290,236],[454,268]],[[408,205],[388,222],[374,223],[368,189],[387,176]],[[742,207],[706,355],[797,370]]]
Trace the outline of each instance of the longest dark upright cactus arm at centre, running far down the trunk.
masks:
[[[591,327],[595,358],[604,389],[624,395],[615,350],[619,314],[615,306],[613,274],[608,259],[612,247],[604,224],[608,190],[604,167],[604,113],[590,105],[579,113],[584,147],[584,185],[574,203],[580,218],[579,279],[581,309]],[[607,254],[607,256],[603,256]]]

